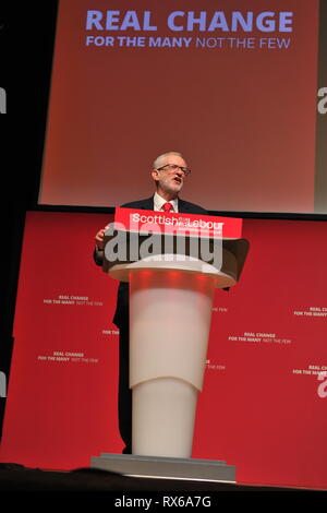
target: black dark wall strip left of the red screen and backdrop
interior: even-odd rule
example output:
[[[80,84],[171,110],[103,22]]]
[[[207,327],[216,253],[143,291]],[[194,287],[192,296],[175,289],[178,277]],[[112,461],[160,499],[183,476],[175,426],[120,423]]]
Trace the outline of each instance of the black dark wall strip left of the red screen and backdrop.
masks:
[[[7,1],[0,8],[0,87],[7,92],[7,114],[0,117],[0,371],[7,380],[25,212],[37,203],[57,3]],[[0,429],[4,406],[0,397]]]

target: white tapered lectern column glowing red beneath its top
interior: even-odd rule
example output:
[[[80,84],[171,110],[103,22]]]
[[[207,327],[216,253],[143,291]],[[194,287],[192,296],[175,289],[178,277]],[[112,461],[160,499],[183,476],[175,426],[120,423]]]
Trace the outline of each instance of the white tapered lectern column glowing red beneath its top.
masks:
[[[129,248],[131,237],[129,234]],[[130,283],[133,455],[191,458],[214,293],[237,284],[249,244],[244,239],[211,241],[216,243],[213,264],[203,261],[201,254],[192,255],[192,237],[187,237],[183,254],[177,249],[178,236],[171,236],[171,243],[166,238],[166,246],[161,235],[157,237],[160,243],[153,243],[152,248],[161,248],[161,253],[131,261],[125,256],[129,252],[124,252],[125,261],[109,256],[104,270],[113,278]],[[110,240],[112,234],[106,242]],[[142,242],[138,236],[140,247]],[[173,253],[166,253],[165,247],[173,249]]]

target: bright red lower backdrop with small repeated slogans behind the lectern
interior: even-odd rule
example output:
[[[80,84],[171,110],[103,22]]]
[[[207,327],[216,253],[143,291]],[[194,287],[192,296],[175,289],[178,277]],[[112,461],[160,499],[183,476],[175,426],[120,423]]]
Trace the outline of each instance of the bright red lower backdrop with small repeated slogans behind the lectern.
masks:
[[[108,222],[27,215],[3,462],[71,469],[122,450],[118,284],[92,256]],[[243,219],[251,249],[240,283],[215,295],[192,455],[235,465],[238,482],[327,487],[326,230]]]

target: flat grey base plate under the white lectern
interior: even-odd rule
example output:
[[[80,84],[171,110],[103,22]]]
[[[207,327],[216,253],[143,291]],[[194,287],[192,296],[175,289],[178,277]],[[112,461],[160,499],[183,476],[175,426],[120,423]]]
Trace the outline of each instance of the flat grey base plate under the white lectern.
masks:
[[[131,477],[235,482],[235,467],[214,460],[102,453],[92,457],[90,467]]]

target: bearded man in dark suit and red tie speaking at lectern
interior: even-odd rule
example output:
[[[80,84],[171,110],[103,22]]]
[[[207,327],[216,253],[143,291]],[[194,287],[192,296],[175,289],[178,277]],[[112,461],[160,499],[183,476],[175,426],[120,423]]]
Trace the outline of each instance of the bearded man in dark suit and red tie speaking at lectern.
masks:
[[[194,203],[179,198],[189,179],[191,169],[179,152],[168,152],[159,155],[153,165],[152,178],[155,193],[145,200],[133,201],[121,205],[125,208],[146,211],[180,212],[185,214],[207,215],[207,211]],[[94,260],[97,265],[104,262],[104,236],[106,227],[95,236],[96,248]],[[119,429],[125,443],[124,454],[132,453],[132,391],[129,386],[129,284],[120,283],[117,297],[117,308],[113,323],[120,330],[119,357]]]

